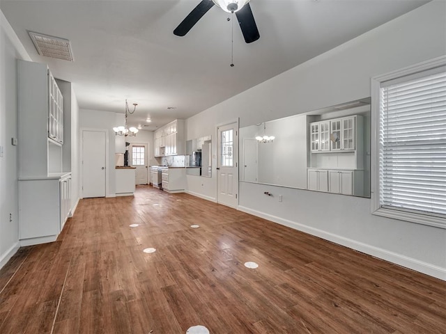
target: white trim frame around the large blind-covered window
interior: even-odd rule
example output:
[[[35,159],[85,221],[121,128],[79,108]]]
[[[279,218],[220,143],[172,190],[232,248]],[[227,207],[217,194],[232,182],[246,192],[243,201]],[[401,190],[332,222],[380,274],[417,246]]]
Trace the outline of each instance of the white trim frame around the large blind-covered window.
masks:
[[[386,74],[371,78],[371,214],[386,218],[419,223],[436,228],[446,229],[446,219],[443,216],[410,212],[402,209],[383,208],[380,206],[379,180],[379,132],[380,132],[380,88],[386,81],[399,79],[417,73],[446,66],[446,56],[433,58],[415,65],[404,67]],[[415,269],[416,270],[416,269]],[[444,279],[444,278],[443,278]]]

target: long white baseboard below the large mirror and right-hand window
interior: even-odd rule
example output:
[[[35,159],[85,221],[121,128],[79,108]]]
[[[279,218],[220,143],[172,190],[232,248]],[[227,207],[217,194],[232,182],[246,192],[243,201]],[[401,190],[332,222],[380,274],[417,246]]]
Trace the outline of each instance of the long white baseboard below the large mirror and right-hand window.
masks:
[[[273,221],[280,225],[284,225],[289,228],[293,228],[295,230],[306,232],[306,233],[312,234],[316,237],[320,237],[322,239],[332,241],[335,244],[346,246],[348,248],[358,250],[362,253],[366,253],[368,255],[378,257],[379,259],[386,260],[386,261],[392,262],[394,264],[398,264],[401,267],[406,267],[408,269],[419,271],[420,273],[425,273],[426,275],[433,276],[435,278],[439,278],[440,280],[446,280],[446,269],[445,268],[438,267],[433,264],[423,262],[420,260],[415,260],[411,257],[407,257],[406,255],[394,253],[389,250],[385,250],[383,248],[378,248],[375,246],[371,246],[369,244],[364,244],[362,242],[355,241],[353,239],[341,237],[337,234],[326,232],[324,230],[319,230],[318,228],[312,228],[311,226],[296,223],[295,221],[289,221],[287,219],[273,216],[271,214],[265,214],[263,212],[252,210],[247,207],[239,206],[238,209],[240,211],[246,212],[247,214],[252,214],[254,216],[265,218],[265,219],[268,219],[268,221]]]

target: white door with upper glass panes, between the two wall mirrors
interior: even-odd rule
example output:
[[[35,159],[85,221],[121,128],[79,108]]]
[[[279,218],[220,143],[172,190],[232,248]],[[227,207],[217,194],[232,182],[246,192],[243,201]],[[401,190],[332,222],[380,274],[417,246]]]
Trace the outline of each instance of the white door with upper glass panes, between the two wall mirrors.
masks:
[[[238,205],[238,123],[217,128],[217,202]]]

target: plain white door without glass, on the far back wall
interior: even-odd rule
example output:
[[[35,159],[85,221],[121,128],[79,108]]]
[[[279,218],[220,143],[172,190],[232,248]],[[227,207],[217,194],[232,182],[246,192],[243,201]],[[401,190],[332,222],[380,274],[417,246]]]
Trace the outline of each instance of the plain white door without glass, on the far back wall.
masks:
[[[82,131],[82,197],[105,197],[105,131]]]

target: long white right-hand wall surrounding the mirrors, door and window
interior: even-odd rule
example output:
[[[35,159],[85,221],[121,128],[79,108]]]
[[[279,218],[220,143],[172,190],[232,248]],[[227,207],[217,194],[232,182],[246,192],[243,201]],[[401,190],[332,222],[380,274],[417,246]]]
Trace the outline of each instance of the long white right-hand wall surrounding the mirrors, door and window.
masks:
[[[237,117],[244,127],[368,97],[371,77],[446,54],[445,14],[432,1],[217,104],[187,120],[187,139]],[[201,179],[188,189],[216,198],[215,173]],[[446,230],[374,216],[367,198],[240,182],[239,208],[446,280]]]

